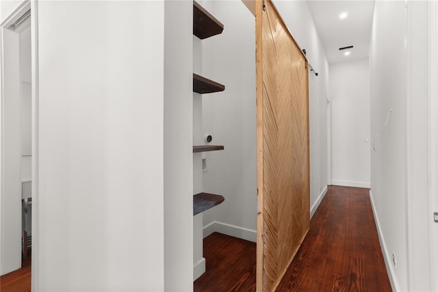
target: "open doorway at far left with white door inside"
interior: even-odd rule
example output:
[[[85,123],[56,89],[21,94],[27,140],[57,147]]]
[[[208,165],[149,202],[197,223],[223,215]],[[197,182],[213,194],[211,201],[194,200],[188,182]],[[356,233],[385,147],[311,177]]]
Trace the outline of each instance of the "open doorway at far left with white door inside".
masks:
[[[31,3],[1,23],[0,275],[26,265],[32,242]],[[29,287],[30,288],[30,287]]]

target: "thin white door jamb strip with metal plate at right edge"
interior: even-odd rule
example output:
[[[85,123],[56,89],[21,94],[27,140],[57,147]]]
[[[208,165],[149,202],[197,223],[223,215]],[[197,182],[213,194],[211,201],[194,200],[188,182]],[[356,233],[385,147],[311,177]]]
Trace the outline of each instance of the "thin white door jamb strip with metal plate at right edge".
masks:
[[[430,214],[430,280],[438,291],[438,228],[433,212],[438,212],[438,3],[428,2],[428,212]]]

